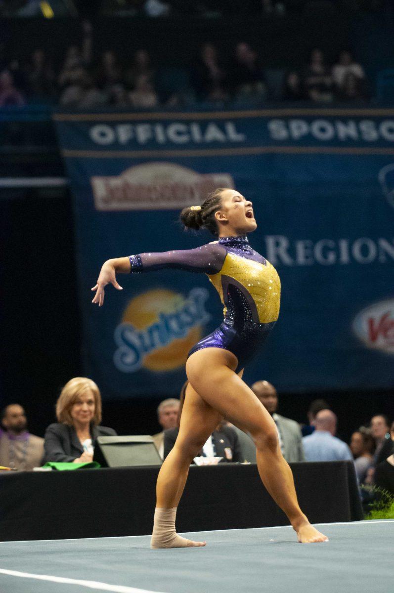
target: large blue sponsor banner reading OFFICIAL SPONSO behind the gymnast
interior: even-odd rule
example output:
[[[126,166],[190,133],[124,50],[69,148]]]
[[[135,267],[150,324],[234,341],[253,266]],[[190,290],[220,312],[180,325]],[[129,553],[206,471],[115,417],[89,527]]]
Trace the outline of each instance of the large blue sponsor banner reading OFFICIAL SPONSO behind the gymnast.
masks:
[[[394,384],[394,110],[57,114],[75,199],[86,373],[107,398],[176,393],[185,359],[221,323],[204,274],[119,276],[110,257],[188,249],[185,205],[215,187],[252,200],[252,247],[282,281],[279,321],[246,369],[278,390]]]

